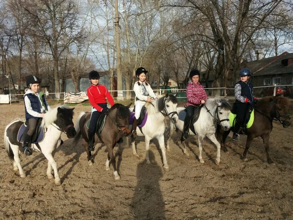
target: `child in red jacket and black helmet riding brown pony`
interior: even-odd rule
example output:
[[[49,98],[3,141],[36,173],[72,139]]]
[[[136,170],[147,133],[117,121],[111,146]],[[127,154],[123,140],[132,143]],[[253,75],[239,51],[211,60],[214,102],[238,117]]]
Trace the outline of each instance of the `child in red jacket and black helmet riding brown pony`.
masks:
[[[91,86],[88,87],[86,92],[88,94],[88,100],[92,106],[90,125],[88,126],[88,150],[92,151],[94,150],[93,142],[98,118],[102,113],[106,115],[109,114],[110,109],[107,106],[106,98],[110,102],[111,106],[114,105],[114,100],[108,89],[99,84],[100,75],[97,71],[92,70],[89,73],[88,78],[91,81]]]

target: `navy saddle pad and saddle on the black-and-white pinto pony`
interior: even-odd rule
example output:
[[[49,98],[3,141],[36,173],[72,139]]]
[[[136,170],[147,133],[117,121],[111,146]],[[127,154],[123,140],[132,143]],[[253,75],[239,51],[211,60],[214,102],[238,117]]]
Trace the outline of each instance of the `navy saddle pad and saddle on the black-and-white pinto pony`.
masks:
[[[43,139],[45,137],[45,131],[44,131],[44,128],[41,127],[41,123],[42,123],[42,118],[39,118],[38,122],[37,122],[35,133],[32,135],[31,143],[36,144],[36,143],[40,143],[43,141]],[[27,129],[28,129],[27,126],[28,126],[28,121],[25,121],[25,123],[23,123],[18,130],[17,140],[20,143],[23,143],[23,139],[26,136]]]

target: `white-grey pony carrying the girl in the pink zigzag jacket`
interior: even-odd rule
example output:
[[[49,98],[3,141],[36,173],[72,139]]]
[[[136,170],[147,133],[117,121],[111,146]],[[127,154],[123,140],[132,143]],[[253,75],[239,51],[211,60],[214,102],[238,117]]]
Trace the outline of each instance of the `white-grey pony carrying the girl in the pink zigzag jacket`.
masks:
[[[194,130],[197,133],[198,137],[198,147],[199,147],[199,156],[200,163],[205,163],[202,159],[202,142],[203,138],[209,138],[217,146],[217,159],[216,164],[220,163],[220,149],[221,145],[215,137],[215,132],[217,129],[217,123],[222,126],[225,131],[230,129],[229,123],[229,114],[232,107],[228,101],[221,98],[208,98],[205,102],[205,106],[200,109],[200,116],[198,120],[193,124]],[[177,108],[177,113],[180,114],[180,111],[184,111],[185,108]],[[179,115],[180,116],[180,115]],[[167,150],[170,150],[170,139],[173,132],[176,130],[182,131],[184,126],[183,121],[180,119],[176,124],[170,123],[170,133],[167,139]],[[190,129],[189,133],[195,135]],[[185,155],[189,156],[189,153],[186,151],[184,138],[181,136],[181,144],[183,146],[183,152]]]

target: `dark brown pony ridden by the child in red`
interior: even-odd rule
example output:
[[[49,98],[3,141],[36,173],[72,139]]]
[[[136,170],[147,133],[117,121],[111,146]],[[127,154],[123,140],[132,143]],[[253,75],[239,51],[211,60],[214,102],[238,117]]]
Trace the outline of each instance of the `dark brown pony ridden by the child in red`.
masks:
[[[109,164],[113,166],[115,180],[120,180],[120,176],[116,170],[116,160],[113,154],[113,148],[115,147],[117,141],[120,139],[120,132],[123,133],[124,136],[130,135],[129,130],[129,116],[130,111],[128,106],[124,106],[122,104],[114,104],[111,109],[109,115],[106,117],[104,128],[100,134],[102,141],[107,146],[108,157],[106,161],[106,170],[110,170]],[[74,138],[74,143],[76,144],[80,136],[84,139],[84,148],[88,155],[88,162],[92,164],[91,151],[88,151],[88,129],[86,128],[86,123],[88,119],[90,119],[90,112],[81,112],[76,122],[76,136]],[[95,134],[96,143],[100,143],[100,140]]]

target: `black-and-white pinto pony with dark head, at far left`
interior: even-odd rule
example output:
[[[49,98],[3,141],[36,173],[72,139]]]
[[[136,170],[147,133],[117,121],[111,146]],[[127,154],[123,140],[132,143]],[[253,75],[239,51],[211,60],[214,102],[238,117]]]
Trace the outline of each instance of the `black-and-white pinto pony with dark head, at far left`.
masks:
[[[58,106],[48,111],[42,119],[41,124],[41,126],[45,129],[45,137],[39,143],[41,150],[37,147],[37,145],[31,145],[33,152],[42,151],[44,156],[47,158],[47,177],[49,179],[53,179],[53,175],[51,174],[53,167],[56,185],[60,185],[61,181],[57,170],[57,164],[53,157],[56,153],[56,149],[61,143],[60,136],[62,132],[66,133],[68,138],[73,138],[76,135],[74,124],[72,122],[73,109],[74,108],[70,109],[68,106]],[[4,131],[4,146],[9,158],[13,160],[13,170],[19,170],[19,174],[22,178],[25,177],[19,158],[22,144],[17,140],[17,134],[23,123],[23,120],[13,121],[6,126]]]

